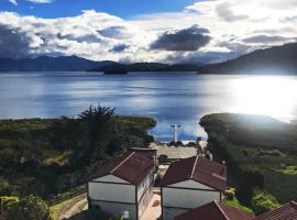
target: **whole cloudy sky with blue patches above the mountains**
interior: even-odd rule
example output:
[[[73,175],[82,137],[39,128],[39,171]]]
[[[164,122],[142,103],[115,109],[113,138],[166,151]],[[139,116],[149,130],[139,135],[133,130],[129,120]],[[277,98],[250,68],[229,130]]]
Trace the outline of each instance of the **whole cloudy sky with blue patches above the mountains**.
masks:
[[[0,0],[0,57],[215,63],[297,41],[297,0]]]

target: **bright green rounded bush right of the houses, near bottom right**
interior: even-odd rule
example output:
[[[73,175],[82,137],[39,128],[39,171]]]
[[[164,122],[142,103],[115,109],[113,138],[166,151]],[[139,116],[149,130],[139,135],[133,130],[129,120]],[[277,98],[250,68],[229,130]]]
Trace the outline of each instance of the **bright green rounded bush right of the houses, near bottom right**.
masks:
[[[260,189],[255,189],[252,198],[252,208],[255,215],[261,215],[266,211],[274,210],[279,207],[276,198],[268,194],[267,191],[263,191]]]

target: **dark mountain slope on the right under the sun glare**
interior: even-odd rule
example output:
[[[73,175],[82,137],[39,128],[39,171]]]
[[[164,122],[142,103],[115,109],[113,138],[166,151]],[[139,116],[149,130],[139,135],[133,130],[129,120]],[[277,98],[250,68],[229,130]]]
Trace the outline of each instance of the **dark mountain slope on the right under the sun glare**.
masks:
[[[199,74],[297,74],[297,43],[254,51],[233,61],[202,66]]]

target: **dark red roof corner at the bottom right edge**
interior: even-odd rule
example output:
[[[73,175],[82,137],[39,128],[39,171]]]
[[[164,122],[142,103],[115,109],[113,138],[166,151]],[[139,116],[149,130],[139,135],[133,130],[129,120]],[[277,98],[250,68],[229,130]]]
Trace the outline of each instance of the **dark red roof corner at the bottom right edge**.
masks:
[[[297,204],[292,201],[278,209],[260,215],[254,220],[297,220]]]

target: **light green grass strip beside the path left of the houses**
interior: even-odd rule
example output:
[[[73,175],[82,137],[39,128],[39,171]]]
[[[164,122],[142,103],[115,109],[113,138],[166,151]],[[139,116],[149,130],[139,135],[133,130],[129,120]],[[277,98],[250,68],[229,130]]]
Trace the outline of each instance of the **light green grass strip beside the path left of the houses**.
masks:
[[[53,220],[59,220],[59,217],[65,211],[67,211],[75,204],[77,204],[78,201],[85,199],[86,197],[87,197],[87,194],[82,194],[82,195],[76,196],[74,198],[67,199],[65,201],[62,201],[59,204],[56,204],[56,205],[52,206],[51,207],[51,212],[52,212]],[[78,207],[78,208],[82,208],[82,207]]]

